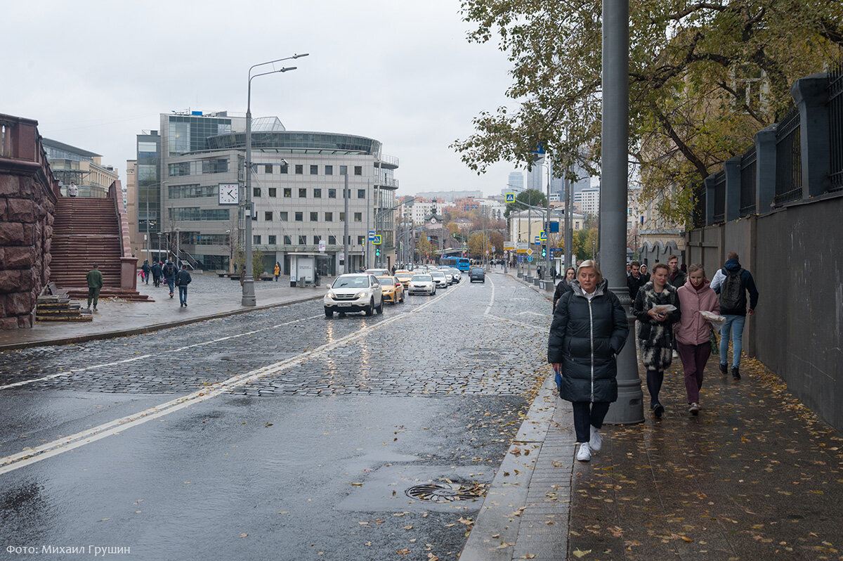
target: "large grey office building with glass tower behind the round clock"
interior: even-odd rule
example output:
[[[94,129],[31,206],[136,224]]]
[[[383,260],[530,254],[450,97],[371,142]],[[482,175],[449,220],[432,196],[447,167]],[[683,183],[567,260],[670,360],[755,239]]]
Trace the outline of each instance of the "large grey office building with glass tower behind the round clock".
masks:
[[[245,120],[215,113],[208,116],[163,114],[159,136],[138,136],[138,214],[150,202],[153,229],[160,232],[162,255],[180,257],[203,269],[229,270],[245,246]],[[142,191],[141,148],[153,154],[158,138],[158,168],[148,169]],[[153,160],[148,159],[149,165]],[[349,225],[348,266],[366,265],[369,230],[382,235],[382,262],[395,262],[394,212],[398,159],[382,154],[372,138],[332,132],[287,131],[276,117],[252,121],[252,245],[264,256],[264,270],[275,262],[289,271],[289,254],[319,253],[322,274],[341,271],[343,226]],[[349,204],[343,201],[348,175]],[[157,192],[153,188],[158,184]],[[239,185],[239,205],[221,205],[219,185]],[[156,200],[157,197],[157,200]],[[155,202],[158,202],[156,205]],[[143,221],[138,220],[142,233]],[[178,244],[175,243],[178,236]],[[322,243],[324,242],[324,247]],[[154,244],[154,242],[153,242]],[[320,251],[323,249],[323,251]],[[370,256],[369,265],[374,264]]]

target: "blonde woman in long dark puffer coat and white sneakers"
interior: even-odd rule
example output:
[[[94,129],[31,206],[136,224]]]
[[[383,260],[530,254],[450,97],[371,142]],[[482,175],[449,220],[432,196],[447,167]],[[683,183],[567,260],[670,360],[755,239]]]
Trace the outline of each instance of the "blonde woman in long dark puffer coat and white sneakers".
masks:
[[[618,398],[615,357],[629,333],[626,312],[607,287],[597,263],[584,261],[550,325],[547,361],[559,396],[573,407],[578,461],[591,460],[603,445],[599,430]]]

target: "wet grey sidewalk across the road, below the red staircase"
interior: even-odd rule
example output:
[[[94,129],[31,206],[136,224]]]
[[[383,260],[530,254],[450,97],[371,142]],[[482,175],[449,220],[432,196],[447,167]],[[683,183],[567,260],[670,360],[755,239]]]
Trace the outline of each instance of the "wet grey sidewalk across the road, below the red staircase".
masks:
[[[302,289],[290,287],[289,278],[255,282],[257,305],[240,304],[242,287],[238,281],[219,278],[213,272],[194,272],[187,291],[186,308],[179,305],[179,291],[172,299],[164,283],[156,289],[153,283],[140,283],[137,290],[148,294],[154,302],[128,302],[121,299],[100,299],[93,321],[39,321],[32,329],[0,331],[0,352],[42,345],[79,343],[93,339],[122,337],[204,321],[216,317],[263,310],[322,298],[333,278],[322,278],[321,286]],[[79,301],[79,300],[76,300]],[[82,305],[87,301],[82,300]]]

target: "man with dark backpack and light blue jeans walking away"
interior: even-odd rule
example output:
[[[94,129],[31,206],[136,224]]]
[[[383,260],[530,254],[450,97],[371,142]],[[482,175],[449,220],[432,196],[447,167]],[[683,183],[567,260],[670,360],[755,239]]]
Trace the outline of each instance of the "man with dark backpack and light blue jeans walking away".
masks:
[[[730,251],[723,268],[715,273],[711,279],[711,288],[719,294],[720,315],[726,318],[726,323],[720,329],[720,372],[726,374],[729,332],[732,333],[732,377],[740,380],[740,352],[744,339],[744,322],[746,316],[755,313],[758,305],[758,289],[752,275],[740,266],[738,254]],[[746,293],[749,291],[749,310],[747,309]]]

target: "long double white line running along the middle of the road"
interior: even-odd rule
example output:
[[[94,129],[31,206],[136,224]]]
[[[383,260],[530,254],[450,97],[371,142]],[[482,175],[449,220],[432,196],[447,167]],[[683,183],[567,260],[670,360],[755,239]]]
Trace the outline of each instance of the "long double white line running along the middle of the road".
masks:
[[[30,464],[33,464],[36,461],[45,460],[46,458],[62,454],[63,452],[67,452],[68,450],[78,448],[79,446],[87,445],[97,440],[104,439],[106,436],[110,436],[111,434],[119,434],[126,429],[130,429],[142,423],[146,423],[147,421],[151,421],[153,418],[169,415],[169,413],[174,413],[175,411],[179,411],[180,409],[193,405],[194,403],[204,402],[208,399],[211,399],[212,397],[216,397],[227,391],[234,390],[239,386],[244,386],[250,381],[257,380],[258,378],[261,378],[263,376],[277,374],[282,370],[287,370],[292,366],[296,366],[298,364],[303,363],[306,359],[310,359],[315,356],[327,353],[337,347],[340,347],[341,345],[344,345],[345,343],[349,343],[350,341],[356,338],[368,335],[370,332],[387,326],[394,321],[398,321],[402,318],[409,317],[411,316],[411,314],[424,310],[428,306],[438,302],[440,299],[443,299],[448,294],[453,293],[454,290],[450,290],[447,293],[442,294],[441,296],[435,296],[426,303],[418,306],[417,308],[413,308],[405,314],[400,314],[394,317],[390,317],[389,319],[379,321],[373,326],[362,327],[362,329],[350,333],[345,337],[341,337],[340,339],[337,339],[334,342],[325,343],[320,347],[314,348],[309,351],[305,351],[303,353],[299,353],[295,357],[291,357],[289,359],[285,359],[274,364],[269,364],[267,366],[260,367],[259,369],[251,370],[250,372],[246,372],[245,374],[232,376],[228,380],[224,380],[223,382],[220,382],[213,386],[208,386],[207,388],[203,388],[199,391],[194,391],[193,393],[187,396],[179,397],[178,399],[162,403],[161,405],[155,407],[149,407],[148,409],[145,409],[141,412],[132,413],[132,415],[126,415],[126,417],[115,419],[114,421],[110,421],[109,423],[100,424],[99,426],[94,427],[92,429],[83,430],[76,434],[71,434],[69,436],[62,437],[59,440],[53,440],[52,442],[48,442],[44,445],[35,446],[31,448],[27,447],[18,454],[13,454],[12,456],[0,458],[0,474],[12,472],[16,469],[19,469],[20,467],[29,466]]]

